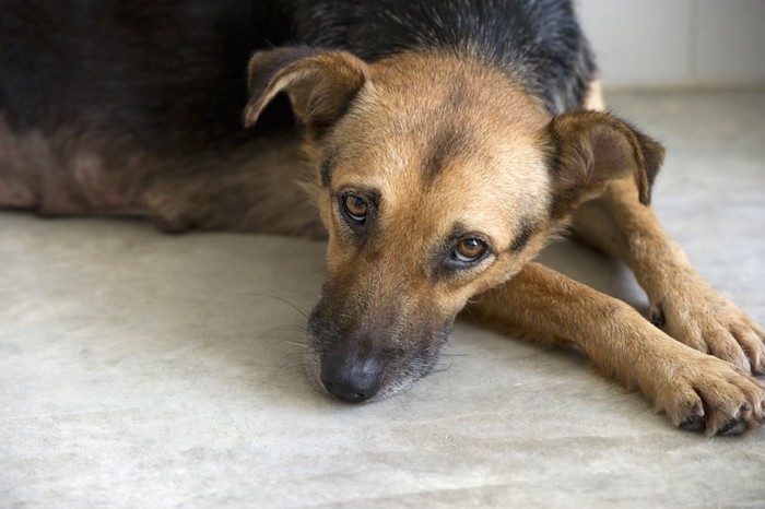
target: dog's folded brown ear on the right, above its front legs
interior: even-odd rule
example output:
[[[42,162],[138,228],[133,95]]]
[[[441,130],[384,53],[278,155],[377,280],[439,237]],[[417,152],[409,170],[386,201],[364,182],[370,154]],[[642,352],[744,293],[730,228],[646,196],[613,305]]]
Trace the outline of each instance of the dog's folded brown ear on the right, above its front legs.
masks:
[[[597,197],[609,180],[629,175],[640,203],[650,202],[664,158],[656,140],[610,114],[584,110],[553,118],[546,133],[558,212]]]

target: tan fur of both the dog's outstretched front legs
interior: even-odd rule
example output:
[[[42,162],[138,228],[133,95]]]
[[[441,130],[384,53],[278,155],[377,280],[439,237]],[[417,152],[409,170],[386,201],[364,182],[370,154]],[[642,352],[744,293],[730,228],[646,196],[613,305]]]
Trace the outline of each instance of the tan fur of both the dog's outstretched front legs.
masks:
[[[602,108],[604,102],[596,96],[588,105]],[[695,350],[672,342],[623,303],[536,264],[479,299],[474,312],[531,336],[573,341],[604,374],[639,388],[675,425],[705,415],[706,405],[708,435],[735,417],[755,426],[765,391],[743,372],[765,366],[764,334],[693,270],[654,211],[639,203],[635,180],[610,181],[601,198],[578,209],[574,224],[588,242],[629,264],[663,310],[666,332]]]

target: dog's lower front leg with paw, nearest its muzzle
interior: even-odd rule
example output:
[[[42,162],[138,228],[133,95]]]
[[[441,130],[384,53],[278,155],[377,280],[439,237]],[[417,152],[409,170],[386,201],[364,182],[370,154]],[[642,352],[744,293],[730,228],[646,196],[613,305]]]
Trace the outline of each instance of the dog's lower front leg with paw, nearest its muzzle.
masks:
[[[765,414],[765,387],[756,379],[673,341],[627,304],[538,263],[476,297],[468,311],[529,338],[575,343],[675,426],[739,434]]]

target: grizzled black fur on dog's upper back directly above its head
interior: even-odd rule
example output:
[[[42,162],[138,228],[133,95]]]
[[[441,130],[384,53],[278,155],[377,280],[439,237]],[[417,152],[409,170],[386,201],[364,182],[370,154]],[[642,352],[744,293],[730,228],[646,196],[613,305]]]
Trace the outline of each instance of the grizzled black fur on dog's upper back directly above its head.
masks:
[[[578,107],[595,73],[570,0],[295,0],[298,38],[366,60],[444,48],[505,70],[551,114]]]

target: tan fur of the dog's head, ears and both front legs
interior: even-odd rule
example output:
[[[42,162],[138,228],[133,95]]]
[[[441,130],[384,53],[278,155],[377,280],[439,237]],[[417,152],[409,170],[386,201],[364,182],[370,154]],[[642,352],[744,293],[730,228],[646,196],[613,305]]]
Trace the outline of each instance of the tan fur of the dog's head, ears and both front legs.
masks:
[[[329,233],[328,283],[315,313],[345,320],[354,338],[368,331],[358,341],[382,342],[374,347],[408,352],[427,336],[416,331],[450,322],[472,298],[469,316],[579,345],[675,425],[703,419],[714,435],[763,417],[765,389],[744,372],[765,365],[762,331],[693,272],[646,205],[663,157],[658,143],[603,113],[551,119],[506,75],[459,56],[404,54],[367,66],[342,52],[281,52],[256,56],[250,72],[274,61],[282,67],[268,83],[256,76],[262,83],[247,121],[286,92],[309,128],[309,164],[331,162],[331,175],[317,171],[315,180]],[[590,92],[587,105],[602,109],[599,84]],[[332,129],[321,129],[328,122]],[[338,197],[369,189],[379,205],[362,240]],[[696,350],[624,303],[531,263],[570,222],[629,263],[663,309],[667,332]],[[492,254],[444,277],[433,257],[456,225],[485,238]]]

